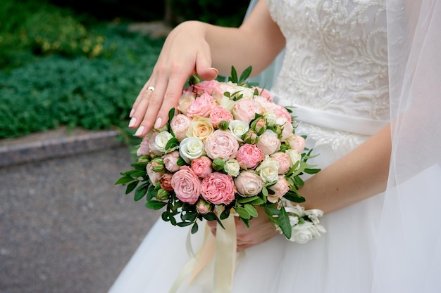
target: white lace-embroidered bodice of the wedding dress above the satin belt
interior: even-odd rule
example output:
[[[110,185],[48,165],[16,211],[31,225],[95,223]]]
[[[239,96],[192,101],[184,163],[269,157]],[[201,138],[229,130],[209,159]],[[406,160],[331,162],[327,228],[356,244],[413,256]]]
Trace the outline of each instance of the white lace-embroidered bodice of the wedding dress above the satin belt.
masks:
[[[389,119],[385,0],[267,0],[286,38],[273,91],[340,115]]]

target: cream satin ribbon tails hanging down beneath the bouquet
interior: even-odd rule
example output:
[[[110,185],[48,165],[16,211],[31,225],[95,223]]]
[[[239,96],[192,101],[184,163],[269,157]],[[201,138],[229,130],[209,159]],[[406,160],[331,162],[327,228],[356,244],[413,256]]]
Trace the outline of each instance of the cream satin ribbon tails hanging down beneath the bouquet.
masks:
[[[182,285],[182,282],[189,274],[188,283],[191,284],[207,263],[213,259],[213,256],[215,257],[213,293],[231,292],[237,249],[235,219],[234,216],[230,215],[227,219],[221,220],[221,222],[225,229],[218,223],[216,237],[213,237],[209,226],[206,226],[204,242],[196,254],[192,253],[189,232],[187,236],[187,250],[192,255],[192,258],[187,261],[180,271],[169,293],[178,292],[180,285]]]

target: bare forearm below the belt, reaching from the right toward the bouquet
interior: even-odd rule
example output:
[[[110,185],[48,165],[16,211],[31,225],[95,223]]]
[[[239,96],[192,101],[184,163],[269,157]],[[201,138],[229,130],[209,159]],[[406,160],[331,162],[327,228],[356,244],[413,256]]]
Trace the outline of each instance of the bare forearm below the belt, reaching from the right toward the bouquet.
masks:
[[[383,192],[389,174],[390,124],[330,166],[309,178],[299,190],[306,209],[336,211]]]

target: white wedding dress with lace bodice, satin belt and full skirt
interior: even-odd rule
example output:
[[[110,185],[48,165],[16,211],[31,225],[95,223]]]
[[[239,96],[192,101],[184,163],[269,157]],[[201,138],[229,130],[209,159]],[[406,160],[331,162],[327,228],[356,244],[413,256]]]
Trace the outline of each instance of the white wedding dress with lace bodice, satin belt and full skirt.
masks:
[[[297,106],[296,132],[308,136],[309,148],[320,154],[314,163],[324,168],[390,120],[385,0],[267,0],[267,4],[286,38],[285,58],[271,91],[278,103]],[[439,156],[437,159],[440,162]],[[439,165],[435,164],[436,168],[435,178],[440,174]],[[441,193],[439,189],[437,193]],[[391,270],[400,266],[398,256],[395,263],[386,261],[394,249],[386,247],[393,239],[385,233],[390,223],[384,222],[390,215],[383,214],[385,202],[387,205],[385,195],[380,194],[326,214],[321,223],[327,233],[304,245],[280,235],[247,249],[237,260],[232,292],[417,292],[395,283],[402,281],[402,275],[391,278],[392,283],[385,278],[390,273],[387,266]],[[414,212],[423,216],[423,211]],[[441,234],[437,221],[433,227],[437,242],[432,249],[439,260]],[[197,235],[192,235],[195,249],[203,233],[200,228]],[[169,292],[190,259],[188,235],[187,228],[159,219],[109,293]],[[379,249],[380,245],[385,248]],[[378,261],[379,254],[383,259]],[[418,263],[412,265],[418,267]],[[421,263],[421,267],[426,265]],[[435,262],[428,266],[438,273],[439,267]],[[182,282],[178,292],[212,292],[211,275],[211,267],[207,266],[192,285]],[[426,285],[435,289],[426,292],[440,292],[436,291],[441,288],[440,282],[433,284],[436,273],[432,275],[425,277]],[[418,280],[418,276],[415,278]],[[385,289],[385,284],[392,289]]]

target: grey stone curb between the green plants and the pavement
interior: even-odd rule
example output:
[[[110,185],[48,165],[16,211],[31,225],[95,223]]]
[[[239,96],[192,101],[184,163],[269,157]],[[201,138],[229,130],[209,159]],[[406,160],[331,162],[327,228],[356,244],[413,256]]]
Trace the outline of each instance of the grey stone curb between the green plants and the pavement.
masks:
[[[123,146],[124,144],[117,139],[118,135],[118,131],[115,130],[67,131],[60,128],[30,134],[24,138],[1,140],[0,167]]]

